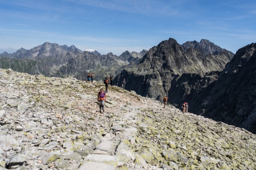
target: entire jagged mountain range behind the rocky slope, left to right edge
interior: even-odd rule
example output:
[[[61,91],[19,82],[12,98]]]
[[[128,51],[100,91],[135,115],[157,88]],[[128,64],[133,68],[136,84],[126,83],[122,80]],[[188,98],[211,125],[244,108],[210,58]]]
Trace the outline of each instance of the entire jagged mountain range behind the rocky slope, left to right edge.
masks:
[[[101,55],[75,46],[44,43],[31,50],[0,54],[0,68],[49,77],[85,80],[88,71],[101,81],[114,74],[114,84],[144,97],[168,102],[177,108],[256,133],[256,44],[236,52],[208,40],[178,44],[162,41],[150,50]]]

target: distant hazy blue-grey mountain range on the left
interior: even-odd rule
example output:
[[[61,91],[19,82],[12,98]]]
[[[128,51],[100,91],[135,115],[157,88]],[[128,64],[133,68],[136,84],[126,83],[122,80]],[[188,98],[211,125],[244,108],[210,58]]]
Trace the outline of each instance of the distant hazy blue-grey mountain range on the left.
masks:
[[[116,56],[112,53],[101,55],[97,51],[87,52],[74,45],[44,43],[31,50],[21,48],[15,53],[0,54],[0,68],[13,69],[32,75],[47,77],[74,77],[85,80],[87,72],[94,72],[94,79],[101,80],[106,74],[118,74],[125,68],[138,64],[147,50],[140,53],[125,51]]]

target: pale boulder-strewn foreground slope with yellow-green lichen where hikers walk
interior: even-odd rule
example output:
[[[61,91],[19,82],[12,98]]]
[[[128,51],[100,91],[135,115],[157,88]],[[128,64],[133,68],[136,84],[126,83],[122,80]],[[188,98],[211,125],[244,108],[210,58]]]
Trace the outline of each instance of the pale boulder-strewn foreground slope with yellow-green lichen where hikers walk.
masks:
[[[0,170],[255,169],[247,130],[116,86],[99,113],[101,87],[0,69]]]

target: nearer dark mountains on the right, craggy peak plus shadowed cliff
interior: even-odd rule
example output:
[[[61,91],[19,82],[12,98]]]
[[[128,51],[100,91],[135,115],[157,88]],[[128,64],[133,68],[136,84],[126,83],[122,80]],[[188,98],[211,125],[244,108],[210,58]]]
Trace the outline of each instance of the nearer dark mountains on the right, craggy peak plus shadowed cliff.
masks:
[[[208,40],[182,45],[169,39],[151,48],[140,64],[120,73],[126,88],[213,120],[256,133],[255,43],[233,53]]]

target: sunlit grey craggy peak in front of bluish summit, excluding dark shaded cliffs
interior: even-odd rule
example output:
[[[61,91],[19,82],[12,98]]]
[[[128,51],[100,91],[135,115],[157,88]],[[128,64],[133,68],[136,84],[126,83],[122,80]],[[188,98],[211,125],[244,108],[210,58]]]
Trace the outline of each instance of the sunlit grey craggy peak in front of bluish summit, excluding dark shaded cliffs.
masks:
[[[127,80],[126,89],[142,96],[162,99],[168,95],[172,80],[182,74],[198,74],[203,77],[211,71],[222,71],[233,55],[223,50],[218,55],[204,55],[201,50],[189,48],[186,51],[176,40],[170,38],[151,48],[140,64],[126,69],[115,79],[116,85]]]

